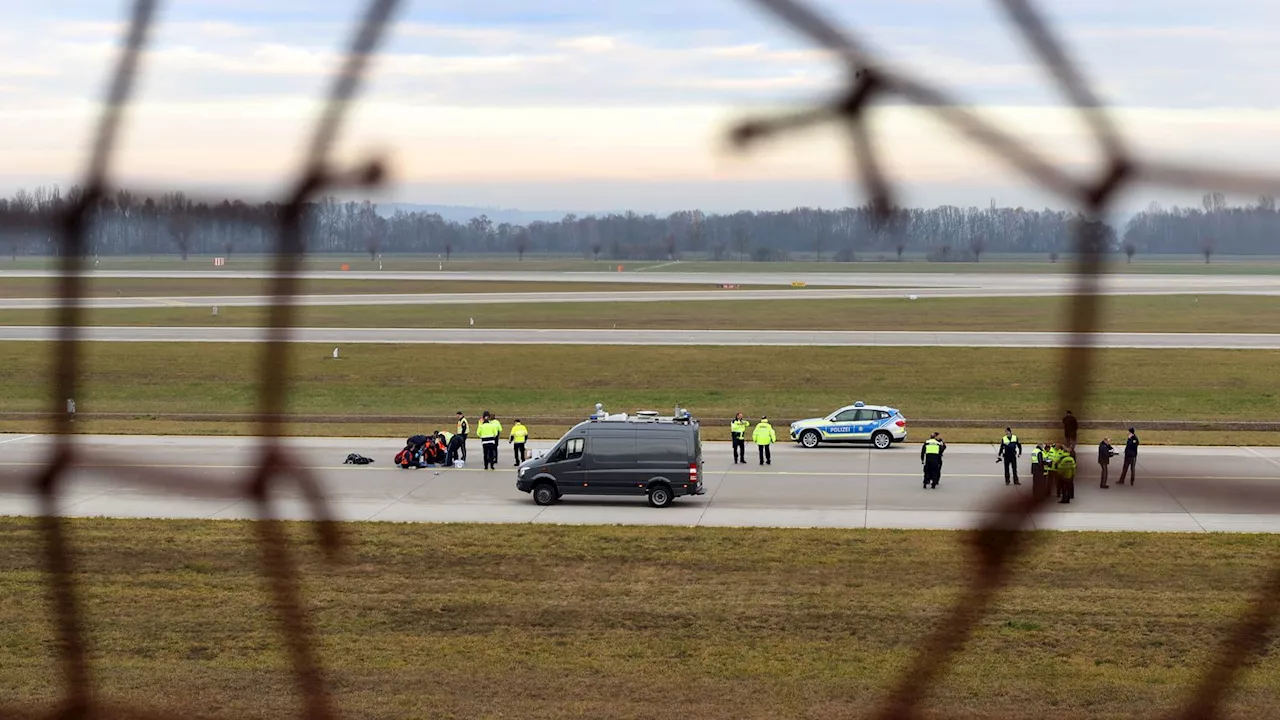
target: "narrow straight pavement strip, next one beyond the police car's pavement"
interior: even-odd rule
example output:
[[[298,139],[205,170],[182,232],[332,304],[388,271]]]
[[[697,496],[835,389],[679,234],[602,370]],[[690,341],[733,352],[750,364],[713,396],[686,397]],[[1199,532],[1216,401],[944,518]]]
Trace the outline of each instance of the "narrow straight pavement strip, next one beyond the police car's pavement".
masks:
[[[0,342],[51,341],[50,325],[0,327]],[[266,328],[86,327],[81,338],[100,342],[262,342]],[[909,331],[635,331],[527,328],[294,328],[291,342],[325,345],[640,345],[820,347],[1094,347],[1280,350],[1280,334],[909,332]]]

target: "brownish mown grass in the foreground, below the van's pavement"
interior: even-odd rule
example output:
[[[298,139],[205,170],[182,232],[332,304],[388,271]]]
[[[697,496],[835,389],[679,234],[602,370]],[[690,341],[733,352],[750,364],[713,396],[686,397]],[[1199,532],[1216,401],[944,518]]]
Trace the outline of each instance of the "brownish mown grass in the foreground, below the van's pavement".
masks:
[[[72,520],[99,698],[297,714],[252,528]],[[51,711],[36,523],[0,519],[0,710]],[[869,716],[974,571],[952,532],[292,525],[342,716]],[[1171,716],[1280,560],[1275,536],[1037,533],[927,716]],[[1229,716],[1280,714],[1272,641]],[[123,715],[122,715],[123,716]]]

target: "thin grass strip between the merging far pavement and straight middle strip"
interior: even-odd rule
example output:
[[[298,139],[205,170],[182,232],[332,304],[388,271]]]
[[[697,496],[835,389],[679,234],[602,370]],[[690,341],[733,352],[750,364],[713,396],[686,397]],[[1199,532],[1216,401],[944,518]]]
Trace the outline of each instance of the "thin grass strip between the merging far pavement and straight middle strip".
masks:
[[[804,292],[804,291],[797,291]],[[1112,332],[1277,333],[1280,297],[1108,296],[1100,327]],[[1062,297],[876,300],[699,300],[695,302],[530,302],[476,305],[308,306],[300,327],[457,328],[699,328],[787,331],[1060,331]],[[0,310],[0,325],[56,324],[49,310]],[[265,327],[265,307],[87,310],[91,325]]]

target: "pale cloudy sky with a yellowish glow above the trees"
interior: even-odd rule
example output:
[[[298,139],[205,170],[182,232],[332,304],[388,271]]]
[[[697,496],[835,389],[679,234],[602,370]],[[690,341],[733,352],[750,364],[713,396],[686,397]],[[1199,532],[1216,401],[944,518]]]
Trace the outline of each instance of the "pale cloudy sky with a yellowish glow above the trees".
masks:
[[[73,184],[128,4],[0,0],[0,193]],[[1079,118],[998,4],[817,6],[891,67],[957,97],[1078,173],[1100,167]],[[1146,156],[1280,165],[1274,0],[1041,0],[1129,143]],[[302,156],[362,3],[163,3],[113,182],[261,199]],[[434,0],[402,4],[337,158],[388,158],[375,200],[666,213],[859,205],[841,128],[749,152],[737,120],[832,97],[844,65],[749,0]],[[872,131],[901,201],[1068,204],[888,99]],[[1139,187],[1121,201],[1196,204]],[[1249,201],[1247,196],[1230,196]]]

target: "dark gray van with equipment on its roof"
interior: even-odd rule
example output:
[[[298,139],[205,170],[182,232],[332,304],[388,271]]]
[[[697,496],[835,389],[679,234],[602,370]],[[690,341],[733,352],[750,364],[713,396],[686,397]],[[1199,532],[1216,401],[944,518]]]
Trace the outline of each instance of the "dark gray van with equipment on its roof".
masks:
[[[649,505],[666,507],[704,495],[698,420],[641,414],[579,423],[549,452],[520,465],[516,489],[538,505],[563,495],[645,495]]]

